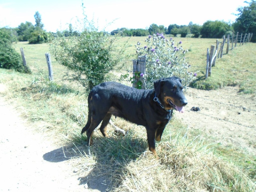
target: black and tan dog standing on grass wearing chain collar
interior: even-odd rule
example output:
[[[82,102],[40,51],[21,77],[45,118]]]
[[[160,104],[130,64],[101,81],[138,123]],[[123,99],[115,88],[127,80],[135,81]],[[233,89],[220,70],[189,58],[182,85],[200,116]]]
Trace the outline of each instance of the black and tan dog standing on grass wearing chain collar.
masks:
[[[100,132],[108,136],[107,125],[112,115],[146,127],[148,147],[156,154],[156,141],[160,141],[166,124],[172,118],[172,110],[184,112],[187,100],[178,77],[161,78],[150,90],[135,89],[116,82],[105,82],[92,88],[88,96],[88,121],[86,131],[88,145],[92,144],[92,132],[101,123]]]

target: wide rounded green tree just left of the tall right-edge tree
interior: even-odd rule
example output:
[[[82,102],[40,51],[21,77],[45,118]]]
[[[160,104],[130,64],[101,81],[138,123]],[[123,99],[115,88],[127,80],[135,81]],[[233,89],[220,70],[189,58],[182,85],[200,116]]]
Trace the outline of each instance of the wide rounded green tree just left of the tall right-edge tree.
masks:
[[[206,21],[203,24],[201,34],[202,38],[222,38],[232,27],[224,21]]]

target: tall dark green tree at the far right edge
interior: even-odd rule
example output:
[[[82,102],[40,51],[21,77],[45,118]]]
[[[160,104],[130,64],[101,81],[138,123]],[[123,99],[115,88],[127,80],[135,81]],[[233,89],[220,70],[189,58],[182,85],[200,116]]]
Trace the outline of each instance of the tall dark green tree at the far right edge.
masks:
[[[246,1],[245,1],[246,2]],[[256,2],[252,0],[249,6],[238,8],[238,18],[233,24],[234,30],[240,33],[253,33],[252,42],[256,42]]]

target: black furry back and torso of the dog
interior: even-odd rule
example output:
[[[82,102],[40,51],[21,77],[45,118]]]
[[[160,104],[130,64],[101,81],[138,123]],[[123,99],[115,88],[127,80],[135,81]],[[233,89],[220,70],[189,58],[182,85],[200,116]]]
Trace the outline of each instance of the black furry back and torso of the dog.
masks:
[[[105,82],[92,89],[88,97],[88,107],[95,112],[110,113],[146,126],[143,108],[148,106],[151,92],[153,90],[134,89],[116,82]]]

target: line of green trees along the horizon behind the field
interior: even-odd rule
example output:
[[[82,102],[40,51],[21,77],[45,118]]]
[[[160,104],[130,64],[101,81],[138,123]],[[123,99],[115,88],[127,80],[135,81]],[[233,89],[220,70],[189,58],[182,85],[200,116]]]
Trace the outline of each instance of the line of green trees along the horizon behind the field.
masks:
[[[246,2],[248,3],[248,2]],[[128,29],[117,28],[110,32],[111,35],[120,34],[121,36],[148,36],[157,33],[171,34],[181,37],[186,37],[190,34],[191,37],[202,38],[222,38],[223,35],[232,34],[232,31],[239,33],[253,33],[256,34],[256,2],[252,0],[248,6],[238,8],[237,19],[235,23],[228,23],[224,21],[206,21],[203,25],[193,24],[189,22],[188,25],[170,24],[168,27],[163,25],[151,24],[148,29]],[[57,31],[56,33],[46,32],[41,21],[41,15],[36,12],[36,24],[26,21],[21,23],[18,28],[8,29],[12,35],[13,41],[28,41],[30,44],[46,43],[52,41],[55,37],[80,36],[79,31],[74,31],[72,24],[69,24],[68,29],[64,31]],[[106,33],[106,32],[104,32]],[[256,42],[256,35],[252,36],[252,42]]]

